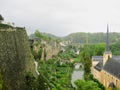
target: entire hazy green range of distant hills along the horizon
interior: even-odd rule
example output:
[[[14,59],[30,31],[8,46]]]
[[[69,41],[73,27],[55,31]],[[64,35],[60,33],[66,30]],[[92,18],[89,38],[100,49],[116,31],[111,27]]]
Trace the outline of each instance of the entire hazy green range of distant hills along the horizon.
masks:
[[[96,44],[96,43],[105,43],[106,42],[106,33],[85,33],[85,32],[77,32],[71,33],[65,37],[58,37],[53,34],[49,33],[41,33],[43,36],[50,37],[51,39],[57,40],[70,40],[73,44],[85,44],[86,38],[88,37],[89,44]],[[31,34],[30,38],[34,38],[35,35]],[[110,32],[109,33],[110,43],[115,43],[120,41],[120,33]]]

